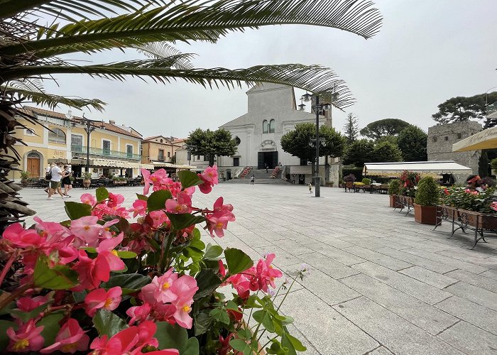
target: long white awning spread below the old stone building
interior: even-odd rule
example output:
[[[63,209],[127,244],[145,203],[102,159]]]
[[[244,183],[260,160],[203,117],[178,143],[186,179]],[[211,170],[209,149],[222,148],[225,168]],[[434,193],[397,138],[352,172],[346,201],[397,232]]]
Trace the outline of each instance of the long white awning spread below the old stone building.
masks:
[[[407,161],[398,163],[364,163],[365,176],[400,176],[404,170],[420,173],[421,176],[442,174],[471,174],[473,170],[457,164],[454,160],[444,161]]]

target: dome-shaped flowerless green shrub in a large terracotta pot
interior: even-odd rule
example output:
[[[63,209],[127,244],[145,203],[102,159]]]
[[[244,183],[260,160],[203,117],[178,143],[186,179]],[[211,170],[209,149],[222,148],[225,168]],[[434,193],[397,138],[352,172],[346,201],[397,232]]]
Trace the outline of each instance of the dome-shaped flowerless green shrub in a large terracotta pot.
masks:
[[[427,176],[417,184],[414,201],[414,220],[422,224],[437,224],[439,186],[434,178]]]

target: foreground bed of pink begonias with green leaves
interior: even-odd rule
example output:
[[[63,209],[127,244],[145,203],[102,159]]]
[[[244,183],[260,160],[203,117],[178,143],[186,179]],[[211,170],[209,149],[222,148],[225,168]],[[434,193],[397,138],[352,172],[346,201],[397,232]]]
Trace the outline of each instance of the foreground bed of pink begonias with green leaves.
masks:
[[[280,315],[280,303],[274,303],[303,271],[275,289],[283,274],[272,266],[274,254],[254,264],[239,249],[205,245],[200,238],[199,226],[222,237],[235,220],[234,208],[222,197],[210,208],[192,205],[197,188],[209,193],[217,184],[217,167],[198,175],[180,171],[179,182],[162,169],[142,175],[143,195],[137,194],[131,209],[122,206],[123,196],[99,187],[95,196],[82,195],[81,203],[65,202],[66,221],[35,217],[30,229],[7,227],[0,239],[6,259],[0,274],[0,321],[6,329],[0,349],[153,355],[305,351],[286,327],[293,319]],[[222,287],[234,293],[226,297]]]

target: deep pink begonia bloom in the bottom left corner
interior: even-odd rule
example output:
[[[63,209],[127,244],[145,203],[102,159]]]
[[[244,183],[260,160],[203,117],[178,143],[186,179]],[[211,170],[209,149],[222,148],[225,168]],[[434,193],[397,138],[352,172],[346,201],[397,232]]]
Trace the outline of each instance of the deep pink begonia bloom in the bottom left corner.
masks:
[[[13,327],[8,328],[6,330],[7,337],[9,337],[7,350],[16,353],[40,350],[45,342],[45,339],[40,335],[42,331],[43,325],[36,327],[34,320],[29,320],[17,331],[14,331]]]

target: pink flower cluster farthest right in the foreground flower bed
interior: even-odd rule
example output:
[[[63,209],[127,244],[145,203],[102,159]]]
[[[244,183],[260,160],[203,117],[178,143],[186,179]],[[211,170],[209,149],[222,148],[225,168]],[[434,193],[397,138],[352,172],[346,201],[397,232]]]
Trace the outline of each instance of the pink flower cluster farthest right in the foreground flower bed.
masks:
[[[256,266],[252,266],[243,273],[230,276],[226,283],[231,284],[238,295],[242,298],[249,297],[250,291],[261,290],[269,293],[269,286],[275,288],[275,278],[280,278],[283,273],[275,269],[271,263],[275,258],[274,253],[269,253],[266,258],[259,259]],[[226,276],[226,269],[222,261],[219,261],[219,273]]]

